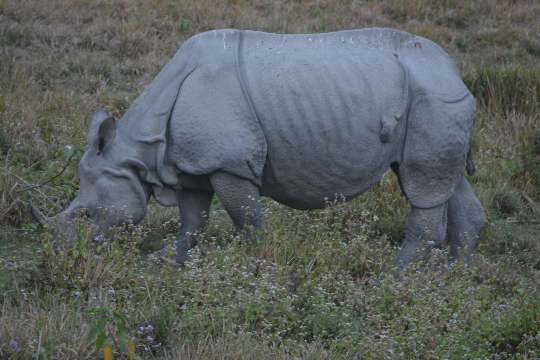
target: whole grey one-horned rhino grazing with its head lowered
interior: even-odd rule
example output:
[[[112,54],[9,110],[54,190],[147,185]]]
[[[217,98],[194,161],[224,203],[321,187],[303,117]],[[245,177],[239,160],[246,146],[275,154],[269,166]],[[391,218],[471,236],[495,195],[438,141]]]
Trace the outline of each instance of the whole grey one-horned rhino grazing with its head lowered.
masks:
[[[322,208],[391,169],[411,206],[397,268],[445,239],[451,260],[470,261],[485,224],[465,177],[474,112],[453,61],[420,36],[208,31],[184,42],[119,121],[92,116],[78,196],[39,217],[69,237],[83,211],[105,233],[140,222],[153,196],[180,209],[183,263],[214,194],[236,229],[258,229],[261,196]]]

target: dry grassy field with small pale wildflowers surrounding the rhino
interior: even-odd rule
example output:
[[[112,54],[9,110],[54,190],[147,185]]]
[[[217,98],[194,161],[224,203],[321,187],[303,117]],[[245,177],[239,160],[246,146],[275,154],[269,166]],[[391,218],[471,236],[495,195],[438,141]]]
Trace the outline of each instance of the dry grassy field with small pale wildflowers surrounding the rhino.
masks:
[[[539,18],[536,0],[0,0],[0,358],[538,359]],[[189,36],[367,26],[436,41],[478,99],[471,266],[438,250],[392,275],[408,205],[390,173],[325,210],[265,200],[255,245],[215,203],[181,269],[149,256],[175,209],[152,204],[114,243],[32,223],[28,194],[50,215],[75,196],[89,114],[121,115]]]

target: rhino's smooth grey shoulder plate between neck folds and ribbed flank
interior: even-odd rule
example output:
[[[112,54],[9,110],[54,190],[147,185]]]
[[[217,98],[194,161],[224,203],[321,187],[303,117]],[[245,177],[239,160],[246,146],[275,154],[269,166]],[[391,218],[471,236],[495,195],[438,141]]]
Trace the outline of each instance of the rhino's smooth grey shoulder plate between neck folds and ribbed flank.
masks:
[[[238,72],[238,30],[198,35],[197,68],[182,84],[169,123],[169,156],[178,170],[217,170],[260,182],[266,139]]]

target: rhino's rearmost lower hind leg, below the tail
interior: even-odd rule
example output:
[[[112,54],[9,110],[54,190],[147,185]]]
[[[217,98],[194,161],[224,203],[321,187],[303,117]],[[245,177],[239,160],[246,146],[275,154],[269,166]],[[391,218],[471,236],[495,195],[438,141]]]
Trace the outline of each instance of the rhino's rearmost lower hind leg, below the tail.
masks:
[[[471,261],[485,223],[484,208],[467,179],[463,177],[448,201],[447,239],[451,262],[459,259],[463,250],[465,262]]]

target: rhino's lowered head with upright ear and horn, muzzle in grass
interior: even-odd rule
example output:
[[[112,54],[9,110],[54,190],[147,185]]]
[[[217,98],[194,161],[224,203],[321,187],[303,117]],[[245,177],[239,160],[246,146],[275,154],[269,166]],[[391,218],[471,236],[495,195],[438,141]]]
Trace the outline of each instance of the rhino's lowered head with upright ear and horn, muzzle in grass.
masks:
[[[141,221],[150,197],[150,189],[139,178],[137,162],[129,160],[133,150],[117,134],[116,121],[109,113],[99,111],[92,116],[87,141],[79,163],[78,196],[51,218],[31,207],[41,224],[68,240],[76,238],[74,220],[81,215],[97,227],[96,235],[107,235],[114,226]]]

